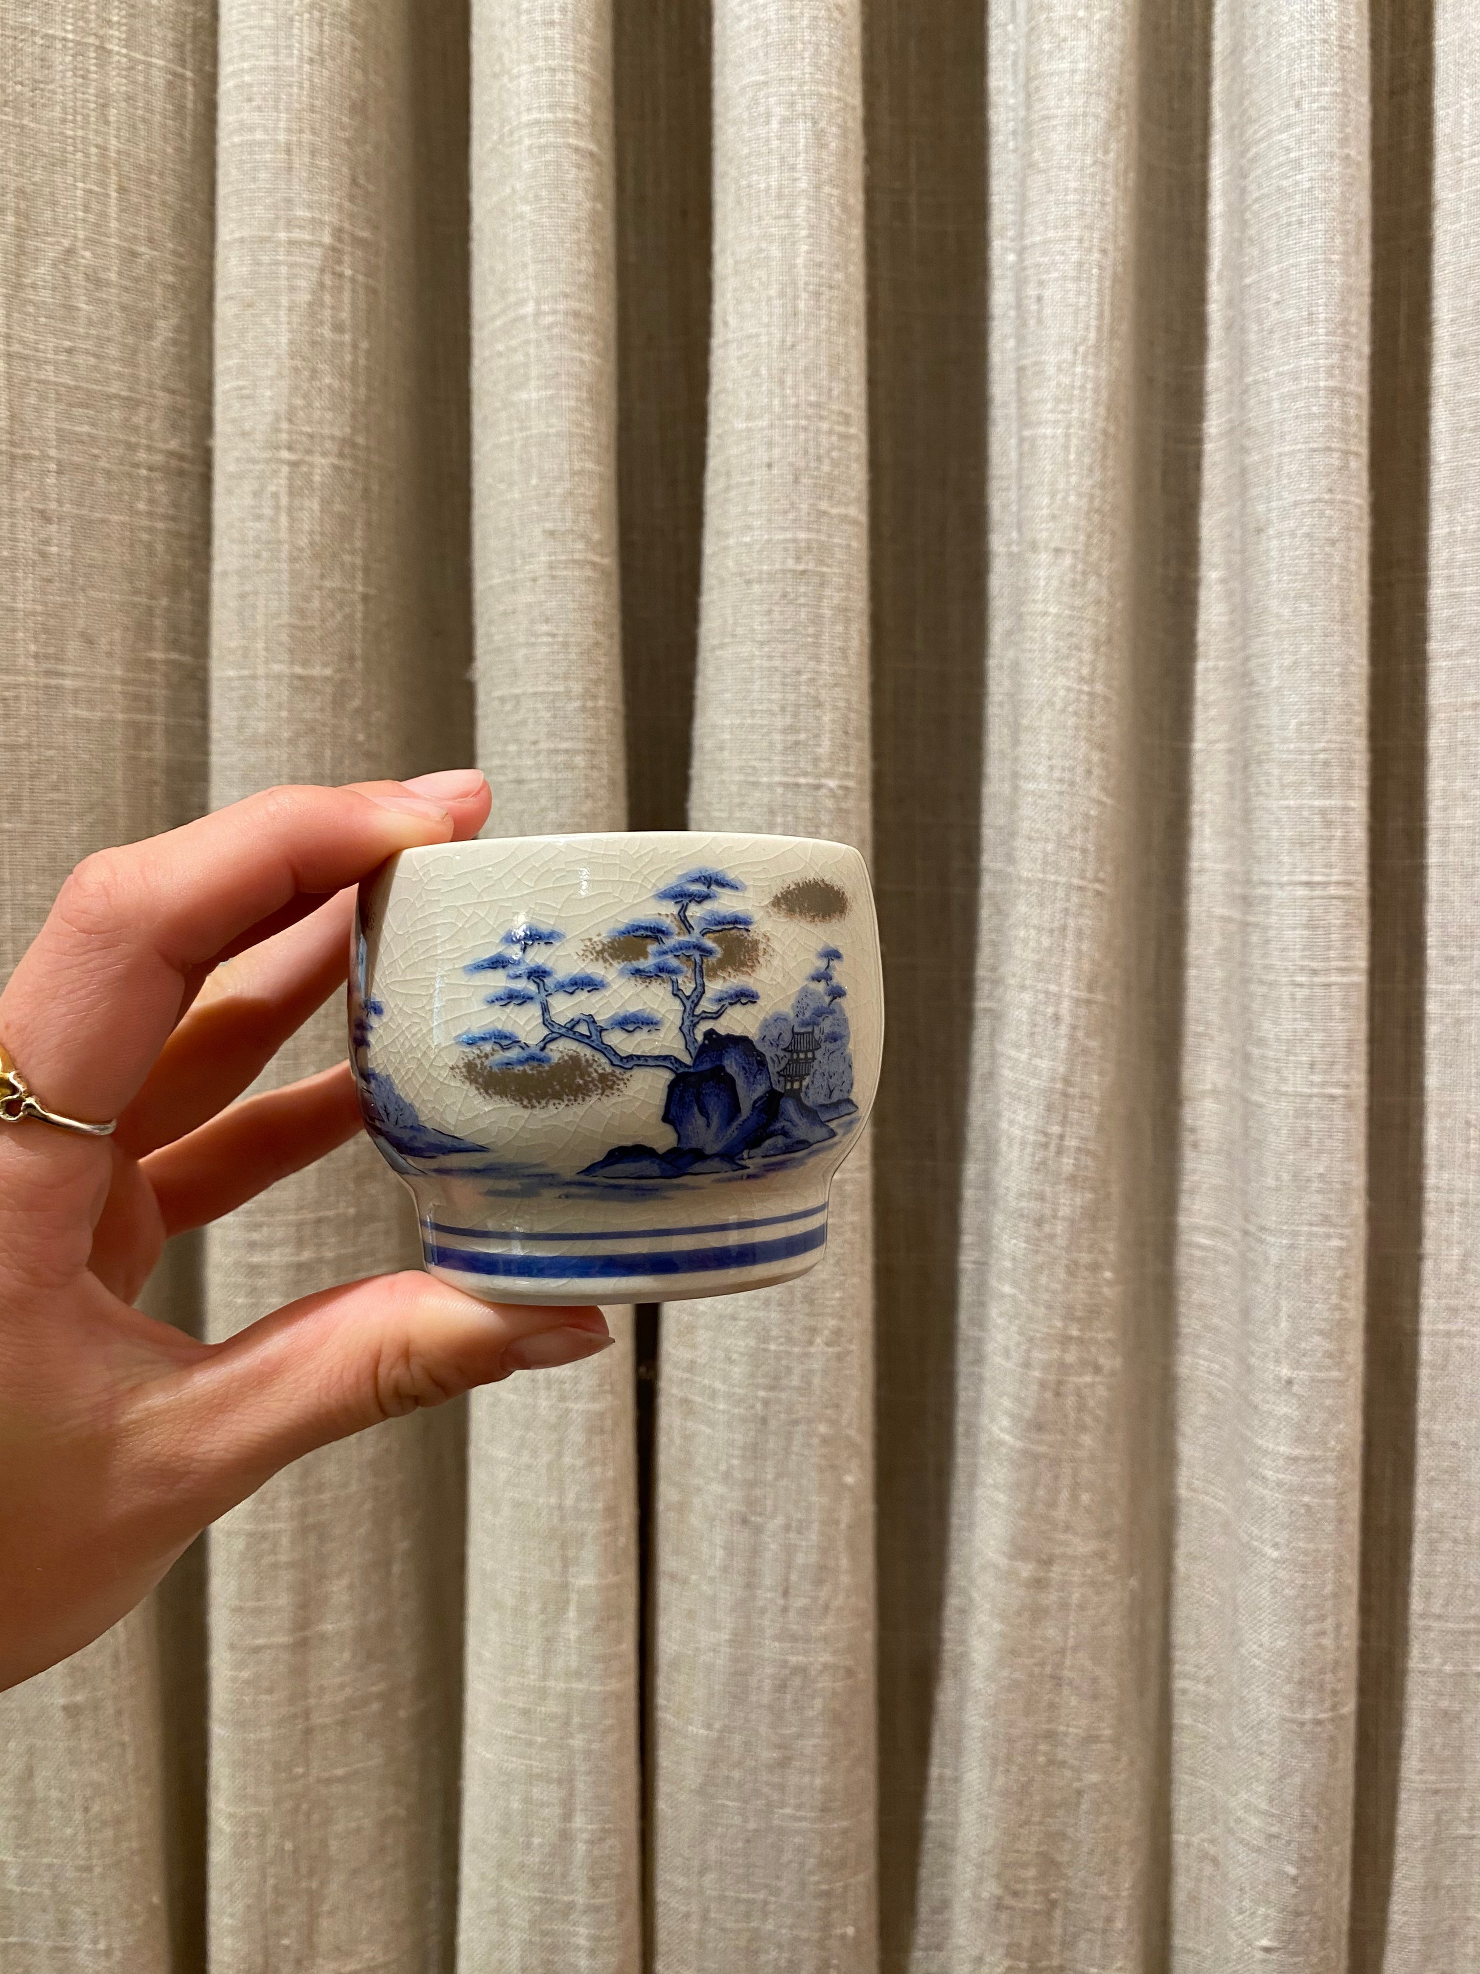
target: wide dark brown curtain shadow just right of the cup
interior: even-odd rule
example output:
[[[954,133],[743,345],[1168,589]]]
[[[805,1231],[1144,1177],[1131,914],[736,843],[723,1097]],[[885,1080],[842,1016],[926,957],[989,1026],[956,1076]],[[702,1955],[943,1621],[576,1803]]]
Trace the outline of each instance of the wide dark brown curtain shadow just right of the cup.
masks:
[[[874,884],[894,1028],[874,1111],[884,1970],[910,1954],[949,1522],[987,640],[985,61],[981,0],[864,8]]]

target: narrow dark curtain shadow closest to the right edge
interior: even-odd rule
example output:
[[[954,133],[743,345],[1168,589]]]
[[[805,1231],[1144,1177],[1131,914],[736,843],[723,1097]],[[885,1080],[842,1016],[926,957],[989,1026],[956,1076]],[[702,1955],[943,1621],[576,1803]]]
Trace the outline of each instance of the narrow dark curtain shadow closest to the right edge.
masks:
[[[1371,949],[1352,1974],[1379,1970],[1403,1759],[1425,1115],[1435,0],[1371,8]]]

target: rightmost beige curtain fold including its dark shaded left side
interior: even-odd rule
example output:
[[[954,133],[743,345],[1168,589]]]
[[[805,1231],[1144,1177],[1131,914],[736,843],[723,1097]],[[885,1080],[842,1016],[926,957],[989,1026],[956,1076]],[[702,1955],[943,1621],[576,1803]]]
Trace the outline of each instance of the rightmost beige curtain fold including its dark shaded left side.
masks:
[[[1373,328],[1373,778],[1385,896],[1373,900],[1373,1277],[1364,1585],[1366,1816],[1354,1970],[1464,1966],[1480,1950],[1480,1427],[1476,1390],[1476,681],[1480,677],[1480,49],[1464,8],[1393,4],[1377,75]],[[1391,476],[1379,480],[1383,476]],[[1377,586],[1381,576],[1381,586]],[[1427,665],[1415,653],[1427,649]],[[1383,699],[1379,703],[1381,693]],[[1381,722],[1381,724],[1379,724]],[[1381,995],[1381,1001],[1377,999]],[[1383,1060],[1375,1050],[1381,1044]],[[1377,1194],[1377,1175],[1385,1180]],[[1383,1277],[1377,1267],[1383,1267]]]

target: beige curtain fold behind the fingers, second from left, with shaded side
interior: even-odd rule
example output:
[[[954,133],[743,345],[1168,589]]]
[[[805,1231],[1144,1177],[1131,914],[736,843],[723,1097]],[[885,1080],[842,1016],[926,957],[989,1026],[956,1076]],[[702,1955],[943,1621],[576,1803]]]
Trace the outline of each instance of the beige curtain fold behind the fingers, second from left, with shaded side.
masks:
[[[231,0],[219,75],[211,801],[468,760],[466,18]],[[349,1145],[209,1232],[209,1334],[416,1259]],[[454,1964],[462,1455],[395,1421],[209,1534],[211,1974]]]

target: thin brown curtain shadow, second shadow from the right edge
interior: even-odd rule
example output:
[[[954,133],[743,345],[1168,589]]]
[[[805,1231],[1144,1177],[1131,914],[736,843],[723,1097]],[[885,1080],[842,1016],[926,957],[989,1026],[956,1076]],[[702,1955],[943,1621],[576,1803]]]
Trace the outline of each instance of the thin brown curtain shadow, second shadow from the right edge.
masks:
[[[1170,1954],[1176,1248],[1186,1026],[1186,900],[1202,574],[1208,359],[1212,0],[1150,0],[1137,53],[1135,574],[1127,873],[1135,963],[1125,1060],[1137,1293],[1127,1419],[1147,1706],[1143,1958]]]

